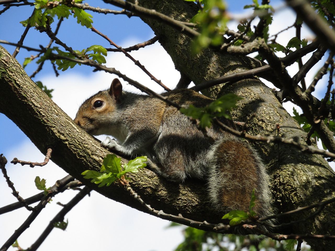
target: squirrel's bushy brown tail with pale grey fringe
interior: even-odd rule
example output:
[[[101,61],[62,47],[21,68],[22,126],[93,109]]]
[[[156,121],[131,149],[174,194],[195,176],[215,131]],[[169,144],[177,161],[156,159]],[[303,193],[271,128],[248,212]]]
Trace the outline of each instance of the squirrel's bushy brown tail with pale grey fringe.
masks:
[[[260,216],[272,214],[269,180],[254,149],[235,137],[218,140],[207,155],[209,196],[218,209],[249,211],[252,190]]]

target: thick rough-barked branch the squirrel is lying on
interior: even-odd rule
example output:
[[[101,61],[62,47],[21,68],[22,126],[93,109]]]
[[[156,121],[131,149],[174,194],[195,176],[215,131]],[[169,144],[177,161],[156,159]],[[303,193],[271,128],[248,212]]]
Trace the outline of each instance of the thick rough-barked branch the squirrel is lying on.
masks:
[[[11,69],[16,70],[13,72]],[[54,163],[104,196],[150,213],[118,184],[98,188],[89,180],[83,179],[81,173],[87,169],[99,170],[103,158],[109,152],[100,147],[98,141],[79,128],[38,88],[19,63],[2,47],[0,88],[0,112],[13,120],[41,152],[45,153],[52,146]],[[7,100],[11,100],[13,105],[6,105]],[[123,161],[127,162],[124,158]],[[147,169],[140,169],[131,178],[133,189],[157,210],[164,208],[167,214],[182,214],[195,221],[207,220],[212,223],[217,223],[223,215],[211,208],[205,186],[200,181],[177,185],[157,177]]]

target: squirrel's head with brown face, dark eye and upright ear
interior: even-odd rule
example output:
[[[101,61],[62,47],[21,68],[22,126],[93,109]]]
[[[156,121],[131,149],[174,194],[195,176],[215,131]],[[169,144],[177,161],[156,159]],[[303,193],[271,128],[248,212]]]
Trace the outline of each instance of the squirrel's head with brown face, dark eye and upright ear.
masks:
[[[74,122],[90,135],[105,134],[111,123],[117,120],[116,109],[121,101],[122,84],[115,78],[108,90],[99,91],[82,103]]]

